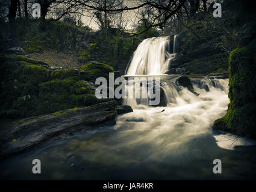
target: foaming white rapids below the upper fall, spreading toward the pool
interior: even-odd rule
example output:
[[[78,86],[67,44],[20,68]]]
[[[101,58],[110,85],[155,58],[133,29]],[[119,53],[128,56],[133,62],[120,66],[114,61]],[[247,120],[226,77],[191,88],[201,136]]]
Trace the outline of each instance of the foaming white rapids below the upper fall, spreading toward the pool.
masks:
[[[134,112],[120,116],[115,126],[122,130],[129,126],[129,132],[137,131],[133,134],[132,143],[154,142],[152,155],[157,158],[184,148],[196,137],[211,134],[211,125],[225,115],[229,103],[228,80],[192,80],[193,88],[199,94],[197,96],[175,85],[175,79],[173,77],[161,83],[167,99],[166,107],[152,107],[145,102],[137,104],[136,99],[127,98],[123,103],[132,106]],[[202,88],[203,85],[207,85],[209,91]],[[231,143],[221,146],[233,149]]]

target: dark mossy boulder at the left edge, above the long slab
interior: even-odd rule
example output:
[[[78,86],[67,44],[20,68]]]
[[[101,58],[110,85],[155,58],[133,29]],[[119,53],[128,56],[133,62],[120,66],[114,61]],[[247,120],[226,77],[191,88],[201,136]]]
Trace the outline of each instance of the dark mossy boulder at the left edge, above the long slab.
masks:
[[[0,69],[1,110],[9,117],[34,115],[39,84],[48,80],[48,68],[23,55],[4,55]]]

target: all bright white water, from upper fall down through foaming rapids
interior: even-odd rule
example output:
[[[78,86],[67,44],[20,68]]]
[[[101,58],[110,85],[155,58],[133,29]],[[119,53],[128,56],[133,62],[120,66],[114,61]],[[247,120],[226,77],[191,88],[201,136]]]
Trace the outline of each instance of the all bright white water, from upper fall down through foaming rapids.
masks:
[[[161,94],[163,94],[161,100],[165,101],[165,106],[149,106],[148,99],[145,98],[125,98],[123,104],[130,105],[134,109],[134,113],[119,118],[116,127],[125,126],[126,121],[139,121],[140,124],[143,124],[139,127],[151,128],[153,126],[166,134],[179,133],[175,137],[169,136],[173,145],[174,143],[178,145],[178,143],[184,143],[183,139],[188,141],[194,136],[209,133],[213,121],[225,115],[229,103],[227,79],[190,79],[194,89],[194,92],[191,92],[187,88],[177,85],[176,79],[179,76],[163,76],[164,72],[168,70],[170,60],[176,54],[176,46],[176,35],[173,37],[172,54],[169,53],[168,37],[149,38],[140,43],[134,52],[128,70],[126,70],[126,76],[157,74],[158,77],[161,77]],[[135,88],[129,83],[126,85],[127,92],[141,91],[141,89],[142,86]],[[134,127],[137,126],[134,124]],[[155,131],[153,132],[147,137],[155,138]],[[217,139],[217,137],[215,138]],[[223,142],[218,145],[229,149],[234,147],[234,145],[225,145]],[[170,149],[165,147],[158,149],[158,151]]]

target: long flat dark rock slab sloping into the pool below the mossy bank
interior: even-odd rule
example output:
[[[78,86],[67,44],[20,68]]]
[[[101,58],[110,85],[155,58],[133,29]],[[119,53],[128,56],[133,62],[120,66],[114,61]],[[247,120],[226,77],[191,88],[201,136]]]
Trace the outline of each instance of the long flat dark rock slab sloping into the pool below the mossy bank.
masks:
[[[128,111],[123,107],[122,113]],[[48,115],[34,116],[20,121],[1,145],[1,158],[38,148],[54,140],[116,121],[117,101],[108,101],[89,107],[61,110]],[[125,110],[125,111],[124,111]]]

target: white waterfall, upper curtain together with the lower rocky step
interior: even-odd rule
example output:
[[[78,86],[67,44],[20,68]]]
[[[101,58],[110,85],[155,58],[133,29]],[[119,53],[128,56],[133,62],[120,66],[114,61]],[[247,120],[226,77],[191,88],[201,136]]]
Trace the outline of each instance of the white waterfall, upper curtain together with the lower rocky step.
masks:
[[[134,52],[133,58],[126,69],[126,77],[138,76],[144,78],[160,77],[160,104],[158,106],[183,106],[184,104],[203,101],[209,92],[219,92],[227,96],[228,80],[221,79],[191,79],[193,91],[183,88],[176,83],[179,76],[164,74],[169,69],[170,61],[175,57],[178,35],[173,35],[173,51],[170,50],[170,37],[156,37],[143,40]],[[172,52],[172,53],[170,53]],[[136,77],[137,78],[137,77]],[[134,82],[134,79],[130,79]],[[144,87],[143,87],[144,86]],[[145,89],[143,83],[139,88],[133,83],[127,83],[126,92],[135,93]],[[211,98],[217,100],[217,98]],[[124,98],[123,104],[130,105],[133,109],[149,107],[148,98]]]

